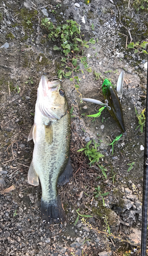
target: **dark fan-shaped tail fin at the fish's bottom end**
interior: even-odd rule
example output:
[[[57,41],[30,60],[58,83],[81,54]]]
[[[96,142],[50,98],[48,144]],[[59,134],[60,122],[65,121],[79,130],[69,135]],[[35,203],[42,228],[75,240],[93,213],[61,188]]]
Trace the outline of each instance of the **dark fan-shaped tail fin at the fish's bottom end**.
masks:
[[[59,195],[55,200],[45,202],[41,198],[41,217],[47,223],[60,223],[66,221],[65,212],[63,210]]]

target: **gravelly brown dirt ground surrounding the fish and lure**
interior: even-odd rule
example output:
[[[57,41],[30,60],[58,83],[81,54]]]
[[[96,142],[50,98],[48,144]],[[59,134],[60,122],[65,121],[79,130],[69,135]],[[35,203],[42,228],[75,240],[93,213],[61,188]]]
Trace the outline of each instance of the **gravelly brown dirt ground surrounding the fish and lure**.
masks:
[[[131,37],[134,42],[145,41],[148,20],[147,10],[137,11],[136,2],[91,0],[86,5],[84,0],[0,1],[1,255],[139,255],[144,129],[142,134],[139,128],[136,130],[135,107],[139,114],[145,108],[147,57],[126,49],[126,39],[128,36],[128,44]],[[73,177],[58,187],[67,222],[51,226],[40,217],[40,185],[33,187],[27,179],[34,147],[27,139],[34,123],[38,84],[42,74],[50,79],[57,77],[61,67],[62,55],[53,50],[55,42],[45,35],[43,17],[50,18],[55,26],[66,19],[76,20],[84,38],[96,40],[84,51],[92,72],[80,63],[84,70],[84,74],[78,74],[83,98],[104,102],[103,80],[96,80],[94,71],[110,78],[114,86],[121,70],[125,71],[121,105],[126,134],[114,145],[113,154],[109,144],[121,134],[114,119],[108,111],[95,120],[87,117],[97,113],[100,106],[80,103],[72,81],[62,78],[70,109],[73,106]],[[98,164],[107,169],[107,178],[97,164],[90,167],[83,152],[77,152],[90,140],[93,146],[93,139],[104,155]],[[135,164],[128,172],[132,162]],[[105,206],[101,196],[94,198],[98,186],[101,194],[109,192],[103,197]],[[79,216],[74,226],[76,210],[92,217]],[[109,229],[112,237],[107,235]]]

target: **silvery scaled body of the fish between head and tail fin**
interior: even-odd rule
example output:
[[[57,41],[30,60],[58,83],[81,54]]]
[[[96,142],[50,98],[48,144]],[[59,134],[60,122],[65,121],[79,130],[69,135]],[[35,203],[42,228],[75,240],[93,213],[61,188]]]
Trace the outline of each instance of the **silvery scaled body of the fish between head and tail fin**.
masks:
[[[52,144],[48,145],[46,142],[43,124],[38,130],[40,140],[38,144],[35,144],[35,155],[33,155],[34,167],[42,186],[42,198],[45,201],[57,196],[58,177],[63,172],[69,158],[70,114],[54,122],[52,126]]]

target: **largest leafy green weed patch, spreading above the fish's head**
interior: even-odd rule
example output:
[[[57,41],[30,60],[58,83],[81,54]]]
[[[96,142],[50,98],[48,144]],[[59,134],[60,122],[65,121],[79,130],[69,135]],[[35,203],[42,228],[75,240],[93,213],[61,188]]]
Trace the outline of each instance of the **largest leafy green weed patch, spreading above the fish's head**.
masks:
[[[73,82],[75,89],[78,91],[81,79],[78,76],[74,76],[73,72],[81,71],[84,73],[83,70],[80,70],[80,62],[88,72],[92,72],[92,69],[88,66],[86,61],[87,58],[83,56],[83,53],[84,48],[89,48],[88,44],[95,44],[95,40],[93,38],[89,41],[83,40],[82,37],[84,35],[81,34],[81,26],[73,20],[66,20],[66,24],[56,27],[48,18],[42,18],[41,25],[50,32],[48,33],[48,38],[58,44],[58,46],[54,46],[53,50],[60,51],[65,55],[65,57],[61,59],[63,62],[61,66],[64,68],[58,69],[58,78],[62,79],[62,76],[70,78],[72,75],[70,81]],[[80,53],[82,53],[82,55],[80,55]],[[82,98],[80,92],[79,94]]]

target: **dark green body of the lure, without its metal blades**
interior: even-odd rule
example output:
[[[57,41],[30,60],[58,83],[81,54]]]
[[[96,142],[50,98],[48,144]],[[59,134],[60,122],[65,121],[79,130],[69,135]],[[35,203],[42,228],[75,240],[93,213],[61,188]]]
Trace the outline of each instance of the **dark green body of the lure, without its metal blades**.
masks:
[[[108,79],[104,80],[104,83],[102,85],[102,92],[105,100],[108,100],[108,105],[110,106],[110,109],[108,108],[108,111],[110,112],[114,120],[117,122],[121,131],[125,133],[126,128],[124,123],[124,117],[122,114],[121,103],[114,87]]]

